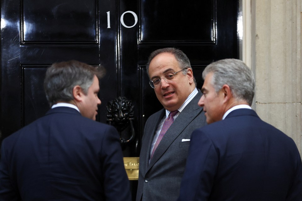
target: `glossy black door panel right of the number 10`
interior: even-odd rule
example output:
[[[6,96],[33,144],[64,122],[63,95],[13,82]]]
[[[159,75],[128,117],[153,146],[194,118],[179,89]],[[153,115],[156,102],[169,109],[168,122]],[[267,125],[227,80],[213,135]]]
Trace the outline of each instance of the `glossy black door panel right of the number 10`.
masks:
[[[215,43],[215,1],[141,1],[140,8],[140,44]]]

